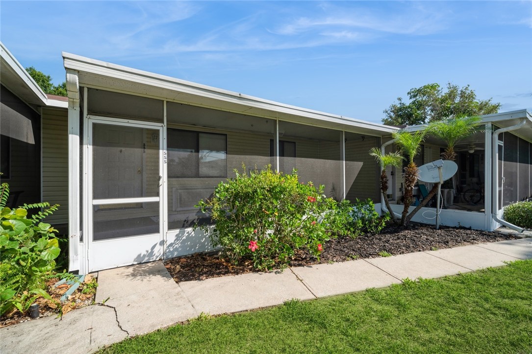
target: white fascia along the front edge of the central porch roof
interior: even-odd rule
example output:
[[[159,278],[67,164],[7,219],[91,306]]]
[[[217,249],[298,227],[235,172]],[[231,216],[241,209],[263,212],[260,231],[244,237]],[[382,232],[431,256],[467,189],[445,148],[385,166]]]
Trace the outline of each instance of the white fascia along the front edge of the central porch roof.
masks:
[[[92,73],[95,75],[101,75],[102,77],[109,77],[115,80],[127,81],[140,85],[167,89],[173,92],[184,92],[185,94],[219,100],[235,105],[264,109],[273,113],[295,115],[309,119],[326,121],[329,123],[377,130],[383,133],[391,133],[397,130],[397,128],[395,127],[389,127],[383,124],[366,122],[362,120],[347,118],[340,115],[334,115],[319,111],[313,111],[312,109],[282,104],[267,99],[243,95],[239,94],[238,92],[201,85],[200,83],[180,80],[161,74],[132,69],[128,68],[127,66],[107,63],[75,54],[63,52],[62,55],[64,58],[65,68],[77,70],[79,72]],[[80,85],[82,85],[82,82],[80,82]],[[172,100],[174,96],[175,95],[173,95],[172,97],[168,97],[168,99]],[[165,99],[167,97],[159,98]],[[246,114],[245,111],[241,111],[241,113]],[[274,117],[274,115],[272,115],[272,117]],[[278,117],[281,118],[281,116]]]

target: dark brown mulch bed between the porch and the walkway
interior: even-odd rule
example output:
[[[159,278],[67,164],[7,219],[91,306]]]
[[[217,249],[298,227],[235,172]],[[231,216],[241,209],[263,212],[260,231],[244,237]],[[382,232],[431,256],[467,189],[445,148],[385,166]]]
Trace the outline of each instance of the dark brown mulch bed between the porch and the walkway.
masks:
[[[408,229],[390,225],[378,235],[362,235],[354,239],[339,237],[327,241],[323,245],[319,260],[308,252],[298,251],[290,261],[290,266],[379,257],[379,252],[382,251],[395,256],[515,238],[498,232],[470,230],[463,227],[441,226],[439,230],[435,230],[434,226],[421,224],[411,224]],[[256,272],[250,261],[234,266],[218,254],[195,254],[172,258],[165,262],[165,266],[178,283]]]

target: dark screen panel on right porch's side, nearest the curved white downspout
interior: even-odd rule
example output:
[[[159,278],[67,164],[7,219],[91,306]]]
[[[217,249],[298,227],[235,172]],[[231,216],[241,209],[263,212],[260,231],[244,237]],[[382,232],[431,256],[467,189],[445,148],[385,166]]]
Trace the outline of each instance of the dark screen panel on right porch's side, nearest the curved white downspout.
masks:
[[[503,153],[503,206],[515,203],[518,195],[518,137],[509,132],[504,133]]]

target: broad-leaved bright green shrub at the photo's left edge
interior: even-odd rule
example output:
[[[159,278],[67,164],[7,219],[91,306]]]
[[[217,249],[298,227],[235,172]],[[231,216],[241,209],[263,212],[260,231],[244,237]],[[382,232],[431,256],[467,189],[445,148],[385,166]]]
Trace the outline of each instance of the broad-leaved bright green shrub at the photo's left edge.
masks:
[[[42,290],[45,273],[55,267],[59,242],[50,224],[40,222],[57,205],[38,203],[10,209],[5,207],[7,184],[0,187],[0,315],[13,307],[25,312]],[[30,208],[48,208],[27,218]]]

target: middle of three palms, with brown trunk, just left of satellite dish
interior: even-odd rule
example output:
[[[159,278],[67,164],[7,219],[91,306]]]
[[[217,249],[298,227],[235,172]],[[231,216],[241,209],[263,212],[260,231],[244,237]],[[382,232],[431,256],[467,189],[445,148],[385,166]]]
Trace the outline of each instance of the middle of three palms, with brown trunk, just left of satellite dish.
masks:
[[[408,208],[413,201],[412,192],[414,190],[414,184],[418,180],[418,166],[414,162],[414,157],[418,155],[421,150],[421,143],[425,139],[425,134],[425,130],[419,130],[413,133],[400,130],[392,133],[392,137],[395,139],[395,143],[400,147],[401,152],[408,156],[408,165],[406,165],[403,171],[404,208],[401,215],[402,226],[406,225]]]

